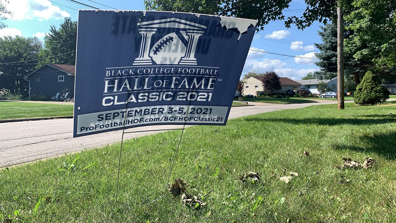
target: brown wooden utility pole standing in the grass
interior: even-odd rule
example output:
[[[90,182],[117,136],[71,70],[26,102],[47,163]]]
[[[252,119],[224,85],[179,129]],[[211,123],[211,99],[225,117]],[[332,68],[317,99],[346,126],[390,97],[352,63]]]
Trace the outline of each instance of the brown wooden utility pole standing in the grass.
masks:
[[[337,7],[337,106],[344,109],[344,19],[341,4]]]

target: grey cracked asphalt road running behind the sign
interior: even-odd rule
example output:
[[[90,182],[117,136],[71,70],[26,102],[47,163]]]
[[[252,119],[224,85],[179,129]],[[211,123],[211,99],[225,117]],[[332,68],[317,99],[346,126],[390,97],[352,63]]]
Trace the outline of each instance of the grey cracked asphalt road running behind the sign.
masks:
[[[229,119],[257,113],[336,103],[337,101],[329,101],[306,104],[272,104],[265,106],[233,107],[231,108]],[[182,126],[179,125],[161,125],[137,127],[133,130],[147,131],[181,127]],[[120,142],[122,135],[122,131],[113,131],[73,138],[72,131],[73,119],[0,123],[0,167],[26,163]],[[136,138],[157,132],[158,131],[129,133],[125,134],[124,138]]]

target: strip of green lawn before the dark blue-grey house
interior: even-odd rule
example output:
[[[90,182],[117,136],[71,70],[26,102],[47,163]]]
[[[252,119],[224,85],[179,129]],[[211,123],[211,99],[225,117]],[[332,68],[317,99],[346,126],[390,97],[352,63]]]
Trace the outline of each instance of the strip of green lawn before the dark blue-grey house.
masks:
[[[73,115],[72,105],[0,102],[1,119],[58,117]]]

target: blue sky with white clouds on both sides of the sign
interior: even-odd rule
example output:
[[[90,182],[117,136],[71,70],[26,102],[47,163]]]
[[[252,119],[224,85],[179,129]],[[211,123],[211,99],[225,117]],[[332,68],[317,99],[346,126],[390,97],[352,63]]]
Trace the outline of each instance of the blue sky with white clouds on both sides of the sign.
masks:
[[[4,2],[4,0],[0,0],[0,2],[2,1]],[[96,8],[110,9],[89,0],[78,1]],[[143,0],[94,1],[120,10],[145,10]],[[36,36],[40,39],[43,39],[45,33],[49,32],[51,25],[59,27],[64,17],[77,20],[78,9],[89,9],[87,6],[78,5],[68,0],[11,0],[7,8],[13,13],[13,17],[5,20],[8,28],[0,30],[0,37],[4,35],[23,35],[25,37]],[[286,17],[299,16],[302,14],[301,9],[304,8],[306,8],[306,5],[303,0],[293,0],[288,9],[291,11],[284,11],[284,15]],[[314,52],[318,52],[312,43],[321,42],[317,33],[319,25],[321,24],[314,23],[308,29],[301,31],[294,26],[286,29],[283,21],[270,22],[264,27],[263,31],[255,35],[251,48],[291,56],[302,55],[305,58],[289,58],[250,50],[242,77],[249,71],[274,70],[281,77],[291,77],[291,79],[299,80],[308,72],[318,70],[318,67],[313,64],[317,60],[306,58],[315,58]]]

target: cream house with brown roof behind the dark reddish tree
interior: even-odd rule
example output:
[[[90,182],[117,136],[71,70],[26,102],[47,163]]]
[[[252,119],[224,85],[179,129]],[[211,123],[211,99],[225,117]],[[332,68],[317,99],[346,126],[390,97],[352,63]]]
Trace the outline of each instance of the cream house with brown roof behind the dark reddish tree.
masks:
[[[259,96],[261,93],[270,93],[270,91],[264,89],[262,80],[263,77],[249,77],[244,83],[244,95]],[[282,88],[273,93],[286,94],[288,90],[297,90],[301,84],[287,77],[280,77],[280,85]]]

